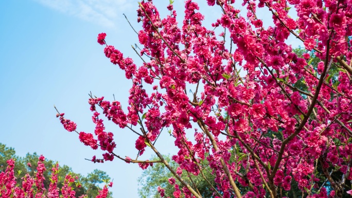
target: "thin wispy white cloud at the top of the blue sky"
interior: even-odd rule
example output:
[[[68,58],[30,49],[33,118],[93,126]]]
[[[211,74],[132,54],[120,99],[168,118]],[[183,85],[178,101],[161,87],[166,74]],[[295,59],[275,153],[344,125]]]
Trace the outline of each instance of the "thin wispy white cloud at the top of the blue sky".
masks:
[[[133,9],[126,0],[34,0],[51,9],[113,28],[122,13]]]

